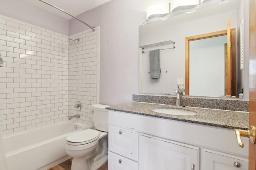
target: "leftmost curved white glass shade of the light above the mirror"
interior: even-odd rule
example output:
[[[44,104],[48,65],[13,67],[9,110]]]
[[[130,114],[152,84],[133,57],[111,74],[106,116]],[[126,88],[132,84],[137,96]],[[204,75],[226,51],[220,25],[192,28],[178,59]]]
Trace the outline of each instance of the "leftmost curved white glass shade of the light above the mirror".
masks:
[[[169,4],[158,4],[152,5],[146,11],[146,20],[154,17],[163,17],[170,13],[170,3]]]

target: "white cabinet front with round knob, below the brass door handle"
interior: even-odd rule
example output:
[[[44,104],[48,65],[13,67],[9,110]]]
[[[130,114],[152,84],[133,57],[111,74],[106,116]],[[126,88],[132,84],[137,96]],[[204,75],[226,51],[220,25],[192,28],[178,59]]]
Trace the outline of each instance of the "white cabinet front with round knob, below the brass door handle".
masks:
[[[204,149],[203,166],[204,170],[248,170],[248,159]]]

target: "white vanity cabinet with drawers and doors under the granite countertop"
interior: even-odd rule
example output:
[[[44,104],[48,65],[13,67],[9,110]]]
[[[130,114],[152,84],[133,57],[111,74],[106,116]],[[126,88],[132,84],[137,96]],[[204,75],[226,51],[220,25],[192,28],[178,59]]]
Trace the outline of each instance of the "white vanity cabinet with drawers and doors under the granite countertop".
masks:
[[[108,123],[110,170],[248,170],[248,145],[233,129],[119,111]]]

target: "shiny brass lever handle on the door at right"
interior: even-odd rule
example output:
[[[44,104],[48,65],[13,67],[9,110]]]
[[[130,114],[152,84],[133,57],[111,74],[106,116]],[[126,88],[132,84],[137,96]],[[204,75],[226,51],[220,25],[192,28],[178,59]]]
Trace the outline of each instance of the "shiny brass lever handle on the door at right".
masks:
[[[256,127],[251,126],[249,130],[235,129],[236,140],[239,147],[244,147],[241,137],[248,137],[252,144],[255,144]]]

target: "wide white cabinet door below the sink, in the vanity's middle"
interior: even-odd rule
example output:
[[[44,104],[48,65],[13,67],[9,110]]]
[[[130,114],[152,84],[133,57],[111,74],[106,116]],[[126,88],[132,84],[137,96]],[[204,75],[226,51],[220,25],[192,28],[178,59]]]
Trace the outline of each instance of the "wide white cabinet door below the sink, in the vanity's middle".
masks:
[[[139,133],[139,170],[199,170],[199,151],[198,147]]]

